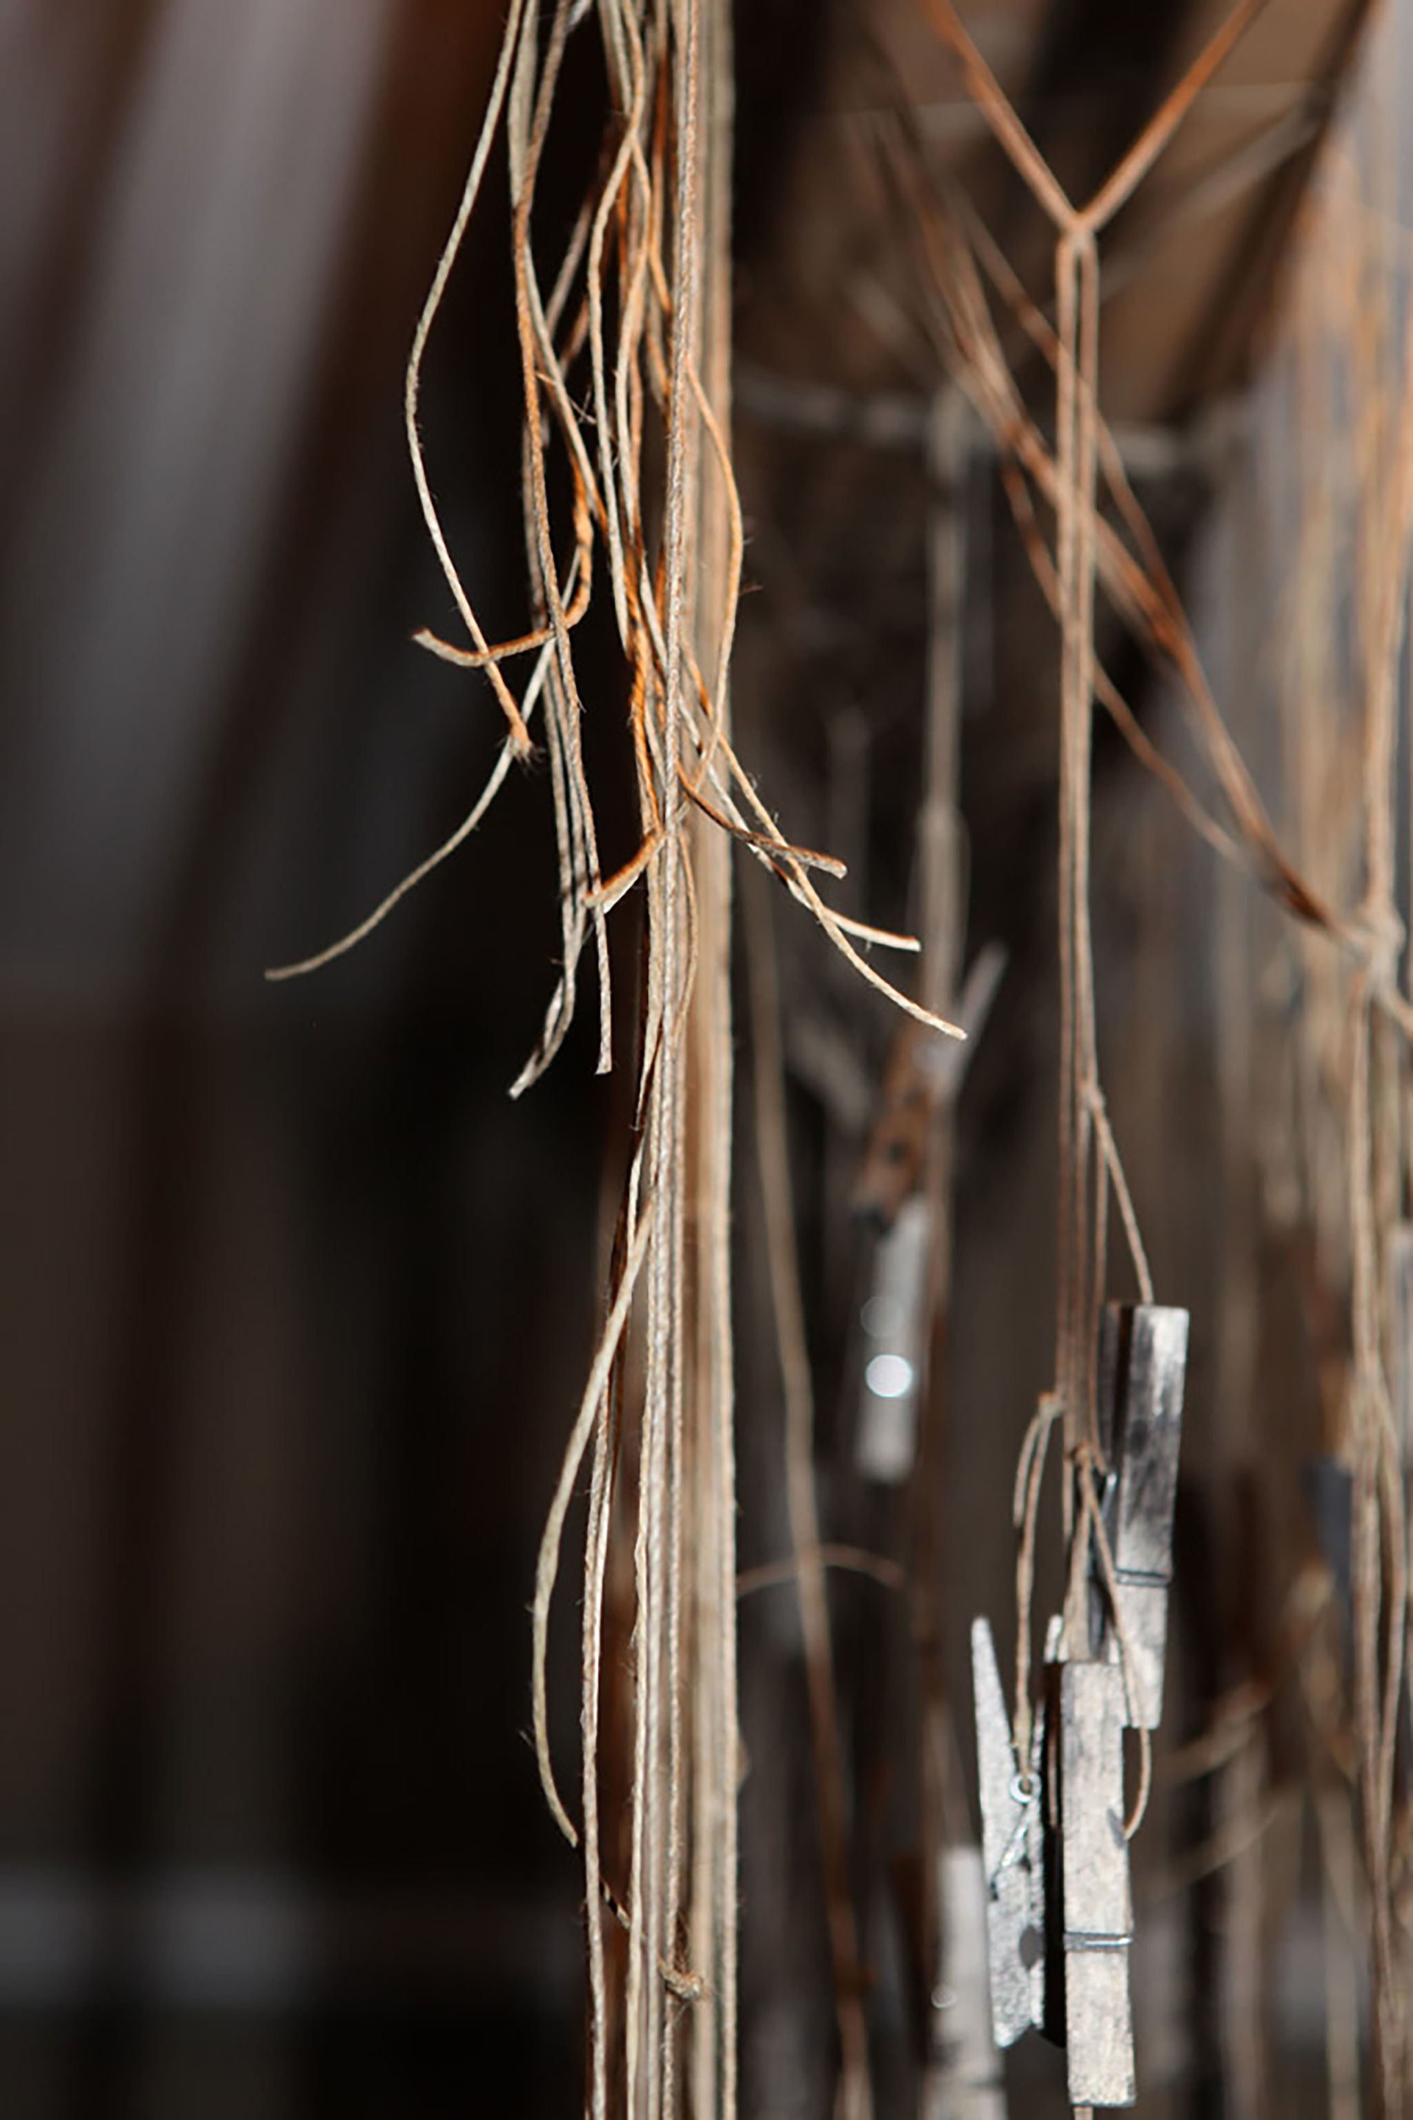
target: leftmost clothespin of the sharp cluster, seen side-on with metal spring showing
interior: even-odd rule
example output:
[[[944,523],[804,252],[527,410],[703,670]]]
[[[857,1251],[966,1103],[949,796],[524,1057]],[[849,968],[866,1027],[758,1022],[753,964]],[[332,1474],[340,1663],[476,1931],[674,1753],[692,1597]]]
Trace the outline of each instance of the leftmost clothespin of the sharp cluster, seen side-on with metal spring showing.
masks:
[[[1030,1760],[1017,1762],[989,1620],[972,1620],[972,1698],[981,1787],[981,1859],[987,1878],[991,2033],[1015,2046],[1044,2025],[1044,1728],[1036,1717]]]

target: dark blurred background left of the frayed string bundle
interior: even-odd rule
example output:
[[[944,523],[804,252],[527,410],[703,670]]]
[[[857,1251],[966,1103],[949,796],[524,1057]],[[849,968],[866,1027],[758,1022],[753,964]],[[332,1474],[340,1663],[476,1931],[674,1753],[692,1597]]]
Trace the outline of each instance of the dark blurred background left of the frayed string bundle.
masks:
[[[0,25],[15,2116],[576,2097],[525,1607],[606,1105],[583,1049],[504,1094],[551,973],[544,787],[318,986],[261,975],[494,757],[485,702],[409,647],[449,619],[400,377],[498,38],[462,0]],[[426,432],[498,621],[494,233]]]

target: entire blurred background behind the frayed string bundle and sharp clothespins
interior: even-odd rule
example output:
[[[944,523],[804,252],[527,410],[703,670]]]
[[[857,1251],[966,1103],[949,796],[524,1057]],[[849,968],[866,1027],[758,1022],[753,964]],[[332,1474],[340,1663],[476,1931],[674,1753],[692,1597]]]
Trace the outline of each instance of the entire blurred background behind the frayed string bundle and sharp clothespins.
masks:
[[[627,13],[564,15],[544,282],[623,129],[602,32]],[[1085,199],[1229,6],[958,13]],[[1405,0],[1248,13],[1099,242],[1099,407],[1155,543],[1102,502],[1095,1028],[1159,1300],[1193,1317],[1131,1972],[1144,2112],[1345,2120],[1409,2103],[1413,25]],[[733,850],[744,2114],[828,2114],[841,2086],[854,2114],[1066,2109],[1038,2039],[964,2080],[938,1959],[938,1851],[977,1832],[968,1628],[1008,1639],[1013,1476],[1055,1380],[1063,1060],[1055,227],[955,19],[735,19],[737,746],[784,837],[847,863],[828,903],[924,939],[917,971],[869,962],[977,1032],[938,1060]],[[23,2120],[583,2097],[585,1878],[527,1743],[527,1607],[661,907],[644,882],[608,926],[616,1071],[585,971],[511,1102],[566,956],[540,750],[358,950],[261,977],[352,929],[500,753],[485,678],[409,642],[462,634],[403,435],[500,36],[453,0],[0,19],[0,2105]],[[491,638],[542,617],[513,182],[498,144],[422,384]],[[703,301],[720,335],[720,280]],[[597,447],[583,352],[566,373]],[[642,784],[602,577],[574,653],[612,876]],[[1119,1221],[1108,1280],[1135,1293]],[[574,1791],[580,1499],[547,1675]],[[1042,1618],[1053,1526],[1036,1573]],[[616,1923],[589,1919],[616,2008]],[[672,1995],[667,2039],[697,2001]]]

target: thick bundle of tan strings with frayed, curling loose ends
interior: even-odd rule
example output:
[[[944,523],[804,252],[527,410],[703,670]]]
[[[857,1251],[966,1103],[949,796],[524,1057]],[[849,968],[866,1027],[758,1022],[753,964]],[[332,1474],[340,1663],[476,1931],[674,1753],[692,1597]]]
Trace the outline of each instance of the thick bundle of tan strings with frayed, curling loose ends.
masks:
[[[553,276],[536,248],[536,182],[568,38],[597,25],[608,81],[602,176]],[[915,950],[847,920],[792,846],[729,738],[727,670],[741,515],[725,439],[729,390],[731,47],[727,0],[513,0],[464,197],[407,371],[407,439],[428,534],[468,642],[422,647],[483,672],[504,714],[496,767],[449,840],[362,920],[271,977],[314,971],[369,935],[485,816],[532,748],[542,702],[559,859],[561,973],[521,1094],[568,1032],[589,939],[600,1071],[612,1064],[606,918],[642,882],[646,973],[638,1001],[636,1151],[614,1236],[606,1323],[544,1526],[534,1594],[534,1736],[549,1806],[583,1851],[589,1936],[591,2112],[669,2116],[682,2099],[680,2020],[691,2003],[691,2105],[735,2112],[735,1486],[727,1179],[731,1155],[729,873],[744,844],[856,971],[934,1030],[960,1035],[894,988],[858,941]],[[534,623],[491,642],[451,555],[417,435],[422,365],[449,276],[504,129],[521,483]],[[551,477],[555,458],[555,477]],[[657,466],[657,469],[650,469]],[[568,485],[568,524],[551,494]],[[661,526],[661,528],[659,528]],[[627,683],[640,844],[600,867],[574,640],[604,568]],[[517,691],[513,670],[530,661]],[[610,712],[619,714],[614,697]],[[701,992],[697,994],[697,982]],[[695,999],[697,996],[697,999]],[[691,1194],[691,1198],[688,1198]],[[684,1232],[693,1219],[688,1274]],[[642,1374],[629,1420],[629,1340]],[[629,1433],[631,1431],[631,1433]],[[580,1819],[549,1743],[547,1643],[566,1516],[591,1459],[583,1596]],[[633,1497],[631,1855],[627,1889],[604,1878],[600,1679],[610,1543]],[[627,1931],[612,1995],[604,1906]],[[619,2050],[621,2035],[621,2050]],[[612,2048],[612,2052],[610,2052]]]

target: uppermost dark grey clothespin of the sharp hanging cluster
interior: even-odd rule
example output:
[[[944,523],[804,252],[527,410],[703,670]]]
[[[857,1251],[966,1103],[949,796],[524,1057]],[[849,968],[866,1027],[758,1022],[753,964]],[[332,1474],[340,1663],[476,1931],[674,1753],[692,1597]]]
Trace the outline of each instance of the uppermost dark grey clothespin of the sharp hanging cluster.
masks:
[[[1119,1611],[1110,1609],[1095,1550],[1089,1649],[1099,1662],[1116,1664],[1127,1647],[1125,1719],[1144,1730],[1157,1730],[1163,1719],[1186,1340],[1186,1310],[1161,1304],[1108,1304],[1104,1310],[1097,1414],[1099,1446],[1110,1469],[1102,1520]]]

